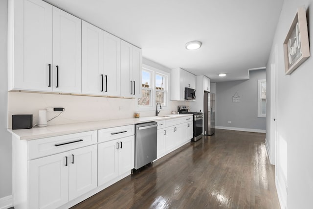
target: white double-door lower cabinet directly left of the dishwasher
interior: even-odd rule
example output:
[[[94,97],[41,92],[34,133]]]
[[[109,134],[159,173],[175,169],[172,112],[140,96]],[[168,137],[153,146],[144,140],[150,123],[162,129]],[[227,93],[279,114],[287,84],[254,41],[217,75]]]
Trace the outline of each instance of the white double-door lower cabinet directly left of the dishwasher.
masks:
[[[134,135],[98,144],[98,186],[134,168]]]

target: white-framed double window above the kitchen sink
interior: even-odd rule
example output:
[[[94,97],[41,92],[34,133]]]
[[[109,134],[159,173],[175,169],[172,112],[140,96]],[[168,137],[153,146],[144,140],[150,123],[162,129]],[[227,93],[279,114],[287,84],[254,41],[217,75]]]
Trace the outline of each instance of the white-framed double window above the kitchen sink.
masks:
[[[169,73],[144,65],[142,69],[142,97],[138,99],[138,110],[154,110],[159,102],[162,110],[168,107]]]

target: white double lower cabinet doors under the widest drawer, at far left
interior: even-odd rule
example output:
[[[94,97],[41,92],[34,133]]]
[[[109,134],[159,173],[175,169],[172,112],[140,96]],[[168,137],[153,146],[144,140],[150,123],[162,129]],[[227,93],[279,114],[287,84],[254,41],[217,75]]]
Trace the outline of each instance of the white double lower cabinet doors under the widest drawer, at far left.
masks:
[[[28,161],[28,208],[53,209],[97,186],[97,145]]]

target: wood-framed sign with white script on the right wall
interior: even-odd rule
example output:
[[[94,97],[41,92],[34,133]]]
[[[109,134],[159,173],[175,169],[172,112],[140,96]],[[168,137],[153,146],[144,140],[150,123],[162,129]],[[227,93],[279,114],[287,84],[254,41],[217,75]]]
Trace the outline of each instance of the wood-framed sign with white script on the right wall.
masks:
[[[305,7],[299,7],[284,41],[285,74],[289,75],[310,57]]]

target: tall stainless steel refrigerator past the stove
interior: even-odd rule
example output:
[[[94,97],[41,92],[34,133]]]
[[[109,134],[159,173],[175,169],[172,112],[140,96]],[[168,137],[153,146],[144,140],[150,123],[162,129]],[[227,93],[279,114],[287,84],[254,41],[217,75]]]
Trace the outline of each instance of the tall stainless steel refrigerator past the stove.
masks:
[[[204,135],[215,133],[215,93],[204,92]]]

